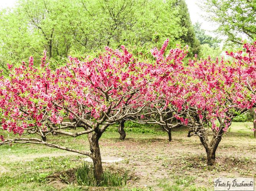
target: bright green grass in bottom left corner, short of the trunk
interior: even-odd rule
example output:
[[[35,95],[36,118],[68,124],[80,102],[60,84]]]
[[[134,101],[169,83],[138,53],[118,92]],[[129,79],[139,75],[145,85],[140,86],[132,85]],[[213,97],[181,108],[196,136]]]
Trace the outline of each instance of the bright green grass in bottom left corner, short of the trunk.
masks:
[[[81,163],[80,159],[80,156],[43,157],[28,162],[2,163],[1,165],[8,168],[9,172],[1,176],[0,190],[11,188],[17,188],[18,190],[19,186],[29,190],[35,184],[43,186],[48,181],[47,177],[53,173],[78,167]]]

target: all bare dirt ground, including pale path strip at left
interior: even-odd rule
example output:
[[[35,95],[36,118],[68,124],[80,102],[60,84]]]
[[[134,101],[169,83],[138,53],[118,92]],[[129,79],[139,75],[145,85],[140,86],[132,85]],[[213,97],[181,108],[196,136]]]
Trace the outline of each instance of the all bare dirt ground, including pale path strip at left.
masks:
[[[86,140],[79,142],[88,144]],[[99,144],[102,159],[123,159],[117,163],[103,163],[104,168],[118,168],[132,173],[133,179],[125,188],[128,190],[213,190],[213,180],[217,177],[256,177],[256,139],[253,138],[224,136],[216,151],[214,167],[206,165],[205,149],[196,136],[187,138],[185,134],[174,134],[173,141],[169,142],[166,135],[147,137],[142,134],[140,138],[134,138],[127,133],[124,141],[118,137],[102,138]],[[72,155],[78,154],[53,152],[22,157],[8,155],[4,160],[30,161],[38,157]],[[6,167],[0,168],[1,173],[8,171]],[[49,184],[59,190],[66,186],[58,180],[52,180]],[[173,189],[172,185],[179,189]],[[191,185],[196,189],[188,187]]]

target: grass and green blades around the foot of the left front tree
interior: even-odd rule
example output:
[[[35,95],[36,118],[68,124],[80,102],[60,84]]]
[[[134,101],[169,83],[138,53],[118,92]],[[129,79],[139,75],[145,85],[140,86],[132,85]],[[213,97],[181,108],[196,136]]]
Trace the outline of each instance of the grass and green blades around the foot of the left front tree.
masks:
[[[81,164],[83,157],[79,156],[44,157],[28,162],[4,163],[9,172],[2,174],[0,190],[18,191],[21,187],[23,190],[91,190],[95,186],[113,190],[138,180],[134,172],[115,166],[104,166],[103,180],[97,185],[92,166],[88,163]]]

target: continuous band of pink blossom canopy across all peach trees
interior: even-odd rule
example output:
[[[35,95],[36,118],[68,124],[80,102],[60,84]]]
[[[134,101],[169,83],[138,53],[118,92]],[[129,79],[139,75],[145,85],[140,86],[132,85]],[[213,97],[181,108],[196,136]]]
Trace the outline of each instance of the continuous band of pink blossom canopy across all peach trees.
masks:
[[[118,108],[128,104],[134,110],[168,108],[186,126],[209,123],[216,131],[220,128],[215,120],[225,118],[226,131],[234,110],[255,108],[256,42],[227,53],[233,62],[210,57],[187,62],[187,49],[172,49],[165,55],[167,45],[168,39],[160,50],[151,50],[152,63],[138,62],[122,46],[121,51],[106,47],[93,59],[69,57],[69,63],[56,70],[46,64],[46,52],[40,67],[34,66],[33,57],[16,68],[8,64],[10,75],[0,77],[3,129],[23,134],[88,113],[97,121],[106,113],[119,115]]]

